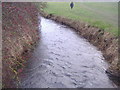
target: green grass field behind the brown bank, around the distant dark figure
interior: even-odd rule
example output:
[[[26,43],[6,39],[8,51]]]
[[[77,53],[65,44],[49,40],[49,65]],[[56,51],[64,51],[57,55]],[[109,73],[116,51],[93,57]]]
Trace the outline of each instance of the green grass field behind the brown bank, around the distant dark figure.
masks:
[[[71,10],[69,2],[47,2],[44,11],[47,13],[81,20],[93,26],[118,35],[117,2],[75,2]]]

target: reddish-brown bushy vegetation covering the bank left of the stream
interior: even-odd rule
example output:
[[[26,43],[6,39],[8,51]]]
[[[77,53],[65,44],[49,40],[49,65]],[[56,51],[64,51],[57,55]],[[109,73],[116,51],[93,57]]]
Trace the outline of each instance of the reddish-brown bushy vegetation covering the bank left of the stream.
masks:
[[[38,10],[32,3],[2,3],[2,23],[2,86],[13,88],[39,39]]]

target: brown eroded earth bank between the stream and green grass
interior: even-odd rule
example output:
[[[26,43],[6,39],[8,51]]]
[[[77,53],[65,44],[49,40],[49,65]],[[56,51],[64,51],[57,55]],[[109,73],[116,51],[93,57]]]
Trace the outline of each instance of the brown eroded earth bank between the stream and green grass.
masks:
[[[67,25],[76,32],[78,32],[82,37],[86,38],[94,46],[97,46],[99,50],[102,51],[105,59],[110,63],[107,73],[110,76],[114,76],[114,80],[120,81],[120,60],[118,58],[118,37],[111,35],[108,32],[105,32],[102,29],[99,29],[89,24],[74,21],[72,19],[67,19],[61,16],[56,16],[53,14],[47,14],[43,11],[40,11],[40,14],[48,19],[54,20],[58,23]]]

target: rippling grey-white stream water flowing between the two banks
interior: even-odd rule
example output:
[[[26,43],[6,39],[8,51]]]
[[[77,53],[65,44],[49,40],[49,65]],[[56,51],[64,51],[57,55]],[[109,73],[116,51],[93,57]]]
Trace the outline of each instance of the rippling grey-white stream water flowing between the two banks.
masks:
[[[74,30],[41,18],[40,41],[21,74],[22,88],[113,88],[102,53]]]

